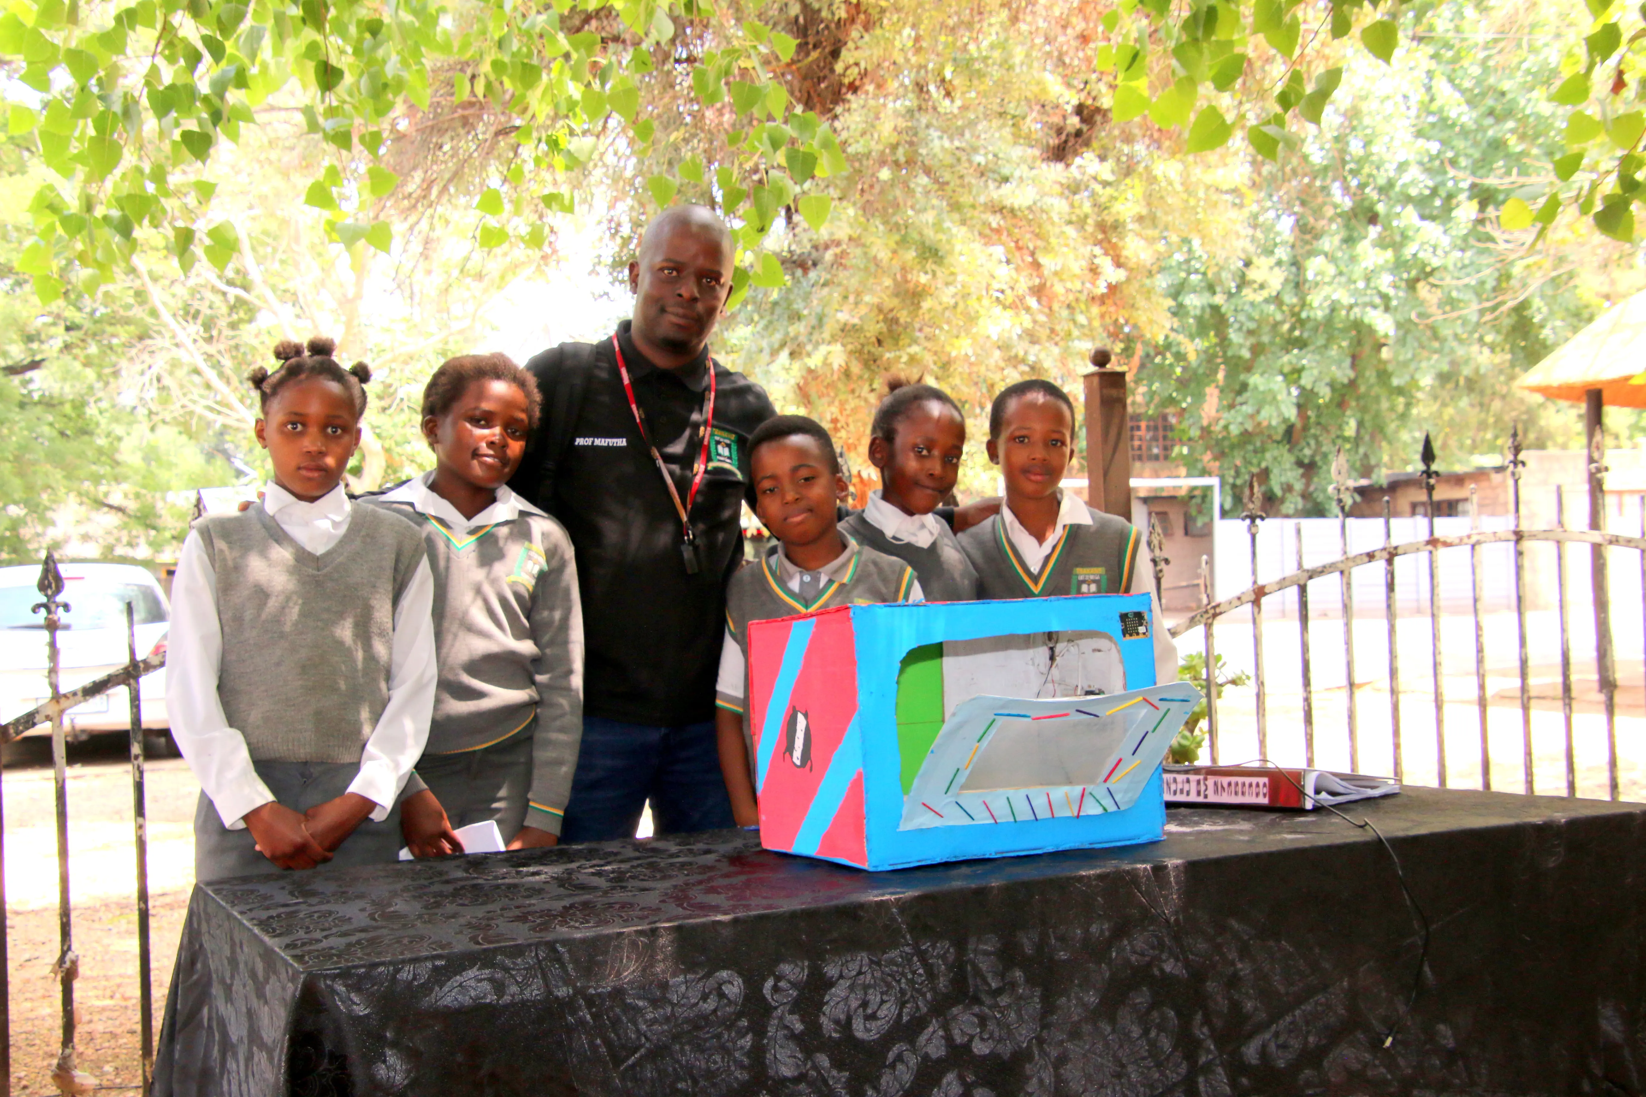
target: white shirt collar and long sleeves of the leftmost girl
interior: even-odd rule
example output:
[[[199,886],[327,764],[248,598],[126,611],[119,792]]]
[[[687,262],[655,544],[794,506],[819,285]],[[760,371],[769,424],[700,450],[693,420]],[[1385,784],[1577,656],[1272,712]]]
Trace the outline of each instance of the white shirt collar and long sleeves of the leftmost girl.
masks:
[[[305,503],[273,480],[263,488],[263,510],[293,541],[324,554],[349,528],[349,500],[339,485]],[[435,577],[428,561],[418,561],[395,607],[388,656],[388,702],[360,752],[360,771],[349,785],[375,804],[372,819],[388,816],[412,766],[428,742],[435,711]],[[229,727],[217,696],[222,668],[222,623],[217,617],[217,571],[199,535],[189,533],[171,581],[171,632],[166,638],[166,711],[171,738],[188,758],[194,778],[222,824],[245,827],[245,812],[273,799],[252,768],[245,737]]]

